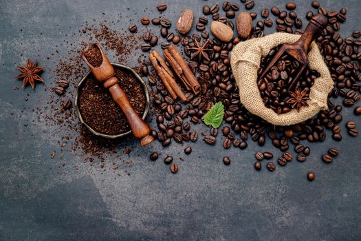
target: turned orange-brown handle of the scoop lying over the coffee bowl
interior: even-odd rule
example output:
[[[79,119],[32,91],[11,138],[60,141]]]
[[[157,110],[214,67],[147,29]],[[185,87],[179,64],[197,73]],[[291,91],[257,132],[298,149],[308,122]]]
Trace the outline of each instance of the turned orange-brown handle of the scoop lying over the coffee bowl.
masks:
[[[133,136],[137,139],[141,139],[140,144],[143,147],[144,145],[151,143],[154,140],[153,136],[149,135],[149,133],[151,133],[151,129],[149,129],[148,125],[146,125],[137,112],[135,112],[131,103],[129,103],[124,90],[122,90],[122,88],[118,85],[118,78],[109,78],[109,80],[105,81],[104,87],[109,89],[113,100],[116,101],[124,112],[124,115],[127,117]]]

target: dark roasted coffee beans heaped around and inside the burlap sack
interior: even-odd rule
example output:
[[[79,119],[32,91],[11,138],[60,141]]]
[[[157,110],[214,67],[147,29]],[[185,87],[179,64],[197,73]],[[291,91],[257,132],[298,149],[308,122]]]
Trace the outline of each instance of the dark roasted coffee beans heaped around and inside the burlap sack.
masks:
[[[245,5],[247,10],[252,9],[255,4],[253,0],[241,0],[241,3]],[[195,31],[188,32],[186,36],[180,37],[184,53],[189,57],[188,65],[201,84],[201,92],[197,96],[186,92],[187,104],[181,105],[169,96],[155,72],[150,71],[149,83],[154,86],[153,90],[155,90],[152,94],[153,104],[155,111],[158,113],[157,130],[153,130],[153,136],[164,147],[172,142],[187,143],[197,140],[197,132],[192,131],[191,127],[200,123],[202,116],[206,114],[208,109],[221,101],[225,106],[224,121],[226,126],[222,129],[222,134],[226,137],[222,142],[225,149],[231,147],[245,149],[248,147],[247,142],[250,140],[258,143],[259,146],[263,146],[266,140],[270,140],[274,147],[283,152],[281,157],[277,159],[278,165],[283,167],[292,160],[292,154],[289,152],[290,145],[294,145],[295,159],[304,162],[307,160],[307,156],[311,154],[311,147],[305,145],[306,141],[308,143],[323,142],[326,139],[327,130],[331,130],[333,140],[342,140],[339,128],[339,124],[342,122],[342,105],[351,107],[360,99],[361,88],[358,82],[361,81],[361,53],[359,53],[358,48],[361,41],[358,38],[361,32],[356,30],[351,37],[346,39],[338,34],[340,23],[346,20],[346,8],[342,8],[338,12],[327,11],[326,8],[320,7],[318,1],[313,1],[311,6],[318,9],[318,11],[307,12],[306,19],[311,19],[318,12],[329,19],[322,36],[316,40],[318,48],[329,67],[333,81],[335,81],[335,87],[329,95],[328,110],[321,111],[317,116],[303,123],[281,127],[270,125],[245,109],[239,101],[239,90],[230,68],[230,51],[241,39],[236,36],[230,42],[225,43],[212,37],[207,31],[209,21],[220,21],[234,30],[232,19],[239,11],[239,6],[237,3],[223,1],[221,5],[216,3],[211,6],[204,6],[202,8],[204,16],[199,17]],[[221,12],[222,10],[223,12]],[[253,24],[248,39],[264,36],[264,29],[274,26],[274,22],[276,23],[277,32],[295,34],[302,34],[303,26],[307,25],[303,24],[303,21],[298,17],[295,3],[287,3],[283,8],[278,6],[263,8],[260,15],[263,20],[256,21]],[[208,16],[210,16],[210,19]],[[250,16],[252,19],[256,19],[257,13],[250,12]],[[162,42],[161,45],[162,48],[168,47],[169,42],[173,41],[175,36],[172,33],[169,35],[171,23],[168,19],[152,19],[151,23],[162,26],[160,35],[166,41]],[[149,33],[146,33],[143,39],[149,41],[150,36]],[[206,50],[208,58],[192,58],[193,48],[197,46],[195,42],[197,41],[202,45],[206,40],[208,42],[204,47],[208,49]],[[146,48],[146,50],[148,49]],[[276,50],[272,50],[268,56],[263,58],[261,67],[265,67],[275,52]],[[289,98],[287,85],[292,81],[292,74],[297,67],[298,64],[292,59],[281,59],[271,73],[259,81],[259,88],[265,105],[274,109],[277,113],[285,113],[292,109],[287,104],[287,98]],[[307,70],[297,85],[300,89],[309,92],[309,88],[317,77],[317,72]],[[344,98],[342,105],[335,104],[333,98],[338,97]],[[354,113],[360,115],[361,107],[355,107]],[[356,127],[349,128],[349,134],[356,136],[358,134]],[[204,135],[203,140],[208,145],[215,145],[217,143],[217,129],[210,129],[210,133]],[[261,170],[262,160],[269,158],[269,162],[266,164],[267,169],[274,171],[276,165],[271,160],[273,158],[272,153],[265,151],[261,155],[257,155],[258,158],[256,158],[254,168]],[[173,157],[167,158],[173,161]],[[164,161],[170,163],[168,159],[167,162]],[[224,162],[224,160],[226,161]],[[223,158],[223,162],[225,164],[230,163],[228,158]],[[313,180],[314,173],[308,174],[307,178]]]

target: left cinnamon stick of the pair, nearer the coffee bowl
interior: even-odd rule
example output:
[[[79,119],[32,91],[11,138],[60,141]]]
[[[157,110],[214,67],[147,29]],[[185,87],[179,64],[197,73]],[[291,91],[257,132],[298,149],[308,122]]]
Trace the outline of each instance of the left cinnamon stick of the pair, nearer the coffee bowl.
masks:
[[[166,65],[166,62],[162,59],[162,56],[158,54],[158,52],[155,50],[149,54],[149,59],[151,60],[151,63],[157,72],[158,76],[160,76],[160,79],[162,80],[164,86],[168,90],[169,94],[171,94],[173,99],[176,99],[177,96],[181,99],[181,101],[186,101],[186,96],[182,92],[181,88],[175,82],[175,77],[169,69],[168,65]]]

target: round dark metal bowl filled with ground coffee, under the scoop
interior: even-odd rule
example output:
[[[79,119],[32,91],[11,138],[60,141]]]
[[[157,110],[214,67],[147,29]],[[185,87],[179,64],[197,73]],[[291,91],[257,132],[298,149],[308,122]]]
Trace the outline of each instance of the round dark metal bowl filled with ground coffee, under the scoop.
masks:
[[[142,118],[149,111],[149,94],[143,79],[131,68],[112,63],[119,84]],[[76,111],[83,123],[93,134],[106,138],[118,138],[131,133],[129,123],[122,109],[113,101],[110,92],[88,72],[78,84]]]

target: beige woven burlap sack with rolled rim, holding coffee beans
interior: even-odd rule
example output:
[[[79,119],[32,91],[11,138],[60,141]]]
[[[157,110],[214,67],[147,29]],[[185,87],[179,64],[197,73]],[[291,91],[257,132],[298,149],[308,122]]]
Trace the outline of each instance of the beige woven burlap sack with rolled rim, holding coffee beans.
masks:
[[[265,107],[257,86],[257,70],[261,56],[265,56],[272,48],[283,43],[294,43],[300,38],[296,34],[275,33],[259,39],[250,39],[237,44],[231,53],[231,66],[234,78],[239,87],[241,103],[252,114],[260,116],[274,125],[294,125],[306,121],[316,115],[321,109],[327,109],[327,95],[332,90],[333,81],[327,65],[322,59],[316,43],[309,49],[309,68],[320,73],[309,92],[308,107],[301,107],[285,114],[276,114]]]

